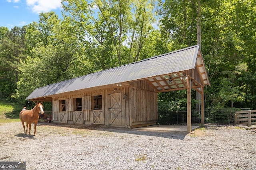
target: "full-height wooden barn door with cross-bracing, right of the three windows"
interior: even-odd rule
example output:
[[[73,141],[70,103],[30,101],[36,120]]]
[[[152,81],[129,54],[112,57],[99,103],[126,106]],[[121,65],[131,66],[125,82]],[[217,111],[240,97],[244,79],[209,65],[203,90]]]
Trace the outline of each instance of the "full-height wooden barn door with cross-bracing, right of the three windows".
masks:
[[[121,93],[108,94],[107,120],[110,125],[122,125],[122,100]]]

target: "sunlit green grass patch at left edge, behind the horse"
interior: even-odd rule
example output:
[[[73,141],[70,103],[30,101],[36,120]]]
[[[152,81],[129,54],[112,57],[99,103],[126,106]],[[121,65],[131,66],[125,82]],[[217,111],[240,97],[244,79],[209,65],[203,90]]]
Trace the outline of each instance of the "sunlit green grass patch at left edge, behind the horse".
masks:
[[[0,99],[0,123],[11,123],[20,121],[19,114],[22,106],[14,102],[6,102]]]

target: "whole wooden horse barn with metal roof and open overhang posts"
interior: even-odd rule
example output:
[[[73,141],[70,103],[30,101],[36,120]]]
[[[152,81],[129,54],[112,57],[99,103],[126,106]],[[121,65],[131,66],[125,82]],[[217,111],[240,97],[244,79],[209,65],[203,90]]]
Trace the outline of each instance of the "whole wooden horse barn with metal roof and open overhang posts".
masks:
[[[26,100],[52,102],[52,121],[85,125],[156,125],[157,94],[187,90],[187,128],[191,131],[191,89],[210,86],[199,45],[180,49],[34,90]]]

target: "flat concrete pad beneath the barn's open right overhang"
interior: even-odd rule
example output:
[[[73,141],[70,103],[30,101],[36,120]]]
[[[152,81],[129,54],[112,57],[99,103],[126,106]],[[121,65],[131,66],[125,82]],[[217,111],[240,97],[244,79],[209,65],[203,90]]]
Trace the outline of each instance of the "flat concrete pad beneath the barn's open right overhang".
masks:
[[[198,125],[191,125],[191,131],[198,128]],[[138,130],[151,130],[151,131],[187,131],[187,125],[153,125],[146,127],[137,127]]]

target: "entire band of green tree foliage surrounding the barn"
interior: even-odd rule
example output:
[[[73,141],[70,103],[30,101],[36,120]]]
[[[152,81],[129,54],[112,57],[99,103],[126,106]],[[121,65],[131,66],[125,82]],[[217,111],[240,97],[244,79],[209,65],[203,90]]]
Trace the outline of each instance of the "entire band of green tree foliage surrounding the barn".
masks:
[[[35,88],[201,39],[211,82],[205,106],[255,109],[255,6],[255,0],[62,0],[62,18],[46,12],[22,28],[0,27],[0,95],[24,102]],[[158,94],[160,110],[186,109],[185,101],[183,91]]]

